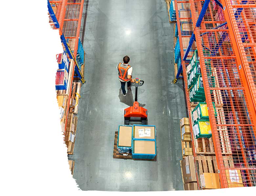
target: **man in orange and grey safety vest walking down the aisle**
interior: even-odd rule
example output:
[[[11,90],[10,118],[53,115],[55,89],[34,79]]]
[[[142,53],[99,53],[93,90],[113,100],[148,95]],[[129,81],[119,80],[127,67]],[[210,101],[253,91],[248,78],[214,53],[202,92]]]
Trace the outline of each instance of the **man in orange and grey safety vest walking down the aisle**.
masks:
[[[133,68],[128,64],[130,58],[128,56],[123,57],[123,63],[118,63],[117,70],[119,80],[121,82],[122,94],[125,97],[125,83],[127,82],[127,89],[131,89],[131,82],[135,82],[135,79],[132,79]]]

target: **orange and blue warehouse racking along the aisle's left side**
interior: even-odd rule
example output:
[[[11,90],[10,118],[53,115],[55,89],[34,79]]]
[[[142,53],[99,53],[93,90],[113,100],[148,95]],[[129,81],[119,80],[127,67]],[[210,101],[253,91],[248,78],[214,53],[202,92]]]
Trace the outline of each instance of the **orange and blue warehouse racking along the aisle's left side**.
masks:
[[[73,154],[77,125],[75,114],[78,112],[81,84],[85,83],[83,75],[85,52],[79,39],[83,3],[84,0],[48,0],[50,25],[53,29],[59,30],[63,54],[67,54],[70,62],[67,88],[56,90],[57,98],[62,96],[59,99],[62,99],[64,105],[65,112],[61,126],[68,146],[68,154]]]

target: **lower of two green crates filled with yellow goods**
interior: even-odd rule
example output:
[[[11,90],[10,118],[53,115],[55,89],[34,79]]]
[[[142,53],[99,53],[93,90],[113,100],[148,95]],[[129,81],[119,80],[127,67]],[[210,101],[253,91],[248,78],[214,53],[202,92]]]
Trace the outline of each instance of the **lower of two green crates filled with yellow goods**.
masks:
[[[203,133],[203,125],[207,125],[208,134]],[[198,120],[193,126],[193,133],[196,139],[198,138],[211,138],[211,126],[209,121]]]

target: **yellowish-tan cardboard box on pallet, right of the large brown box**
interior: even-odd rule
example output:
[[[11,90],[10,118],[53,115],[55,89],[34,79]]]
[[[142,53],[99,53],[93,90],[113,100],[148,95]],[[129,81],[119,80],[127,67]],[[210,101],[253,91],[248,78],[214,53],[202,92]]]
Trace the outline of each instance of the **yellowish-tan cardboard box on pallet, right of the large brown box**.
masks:
[[[201,188],[217,189],[221,188],[218,173],[203,173],[200,175]]]

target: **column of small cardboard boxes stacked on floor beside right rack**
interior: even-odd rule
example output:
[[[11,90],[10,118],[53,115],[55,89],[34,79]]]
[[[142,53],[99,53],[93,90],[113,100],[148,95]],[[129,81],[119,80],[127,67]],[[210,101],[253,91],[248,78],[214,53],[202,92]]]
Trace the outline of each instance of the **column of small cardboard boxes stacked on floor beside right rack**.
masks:
[[[181,147],[182,147],[182,157],[188,155],[193,155],[192,149],[192,138],[191,138],[191,131],[189,126],[189,119],[182,118],[180,120],[181,125]]]

